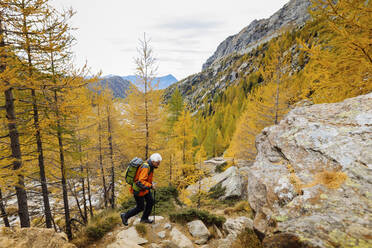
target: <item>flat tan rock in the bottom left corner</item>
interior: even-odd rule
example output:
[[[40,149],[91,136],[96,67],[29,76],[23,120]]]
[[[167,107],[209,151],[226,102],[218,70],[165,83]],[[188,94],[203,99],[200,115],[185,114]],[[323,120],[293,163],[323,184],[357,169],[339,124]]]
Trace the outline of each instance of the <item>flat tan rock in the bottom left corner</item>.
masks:
[[[76,248],[64,233],[46,228],[8,228],[0,230],[0,247],[13,248]]]

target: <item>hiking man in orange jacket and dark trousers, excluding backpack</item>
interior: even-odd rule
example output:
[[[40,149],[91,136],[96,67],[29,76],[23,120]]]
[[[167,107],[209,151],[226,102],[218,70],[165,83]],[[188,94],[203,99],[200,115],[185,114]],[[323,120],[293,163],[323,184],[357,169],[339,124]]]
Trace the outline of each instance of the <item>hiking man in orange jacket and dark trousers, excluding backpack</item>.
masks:
[[[121,220],[125,226],[128,225],[128,219],[143,211],[141,223],[151,224],[153,220],[149,220],[149,216],[154,205],[150,189],[155,190],[156,186],[152,183],[154,169],[158,168],[162,158],[159,153],[154,153],[150,156],[147,162],[144,162],[136,172],[133,180],[133,185],[130,187],[130,192],[136,200],[136,207],[126,213],[120,214]],[[146,201],[146,207],[144,202]]]

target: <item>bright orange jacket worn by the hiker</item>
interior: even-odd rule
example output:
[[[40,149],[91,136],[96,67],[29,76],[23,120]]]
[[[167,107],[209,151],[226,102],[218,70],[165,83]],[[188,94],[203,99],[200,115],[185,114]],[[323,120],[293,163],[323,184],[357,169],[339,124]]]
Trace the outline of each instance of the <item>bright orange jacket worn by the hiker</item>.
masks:
[[[133,194],[134,191],[138,192],[138,196],[144,196],[149,193],[152,186],[152,177],[154,174],[154,168],[147,162],[144,162],[136,172],[134,177],[134,190],[133,186],[130,187],[130,192]]]

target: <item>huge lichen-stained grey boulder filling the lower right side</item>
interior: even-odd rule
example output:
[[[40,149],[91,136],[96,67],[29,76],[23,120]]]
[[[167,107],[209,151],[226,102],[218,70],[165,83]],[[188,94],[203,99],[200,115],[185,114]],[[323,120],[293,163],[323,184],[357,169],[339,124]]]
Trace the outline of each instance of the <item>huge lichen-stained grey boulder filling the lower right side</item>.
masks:
[[[372,247],[372,93],[297,107],[256,147],[247,191],[266,247]]]

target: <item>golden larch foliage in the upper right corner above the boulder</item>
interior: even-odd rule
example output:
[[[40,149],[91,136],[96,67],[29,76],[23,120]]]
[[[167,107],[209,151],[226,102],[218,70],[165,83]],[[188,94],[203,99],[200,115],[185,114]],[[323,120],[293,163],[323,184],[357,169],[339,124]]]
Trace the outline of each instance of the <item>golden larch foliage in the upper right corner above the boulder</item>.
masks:
[[[318,35],[300,41],[310,56],[307,95],[314,103],[337,102],[372,91],[372,3],[312,0]]]

